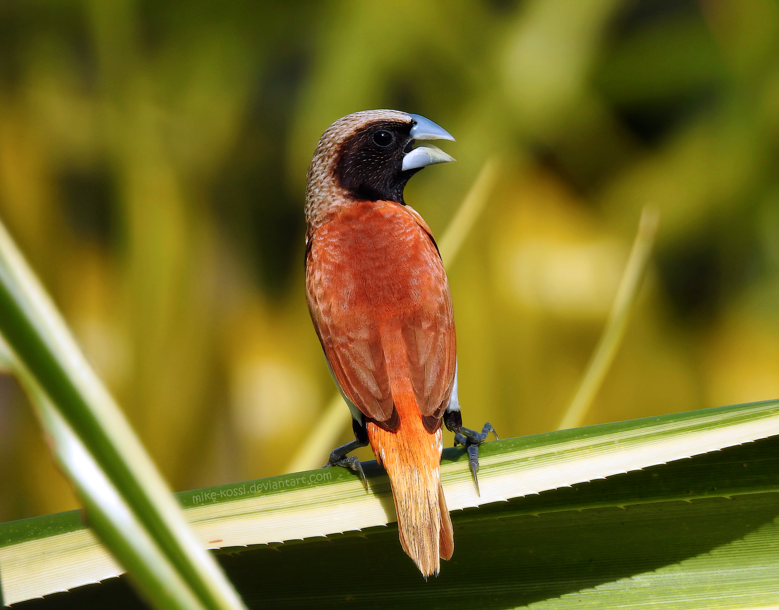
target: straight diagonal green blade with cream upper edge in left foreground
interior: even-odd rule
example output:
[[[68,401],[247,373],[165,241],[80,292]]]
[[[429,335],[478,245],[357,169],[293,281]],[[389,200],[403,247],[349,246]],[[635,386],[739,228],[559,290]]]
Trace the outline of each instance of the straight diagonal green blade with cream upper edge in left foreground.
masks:
[[[203,606],[242,608],[2,225],[0,331]]]

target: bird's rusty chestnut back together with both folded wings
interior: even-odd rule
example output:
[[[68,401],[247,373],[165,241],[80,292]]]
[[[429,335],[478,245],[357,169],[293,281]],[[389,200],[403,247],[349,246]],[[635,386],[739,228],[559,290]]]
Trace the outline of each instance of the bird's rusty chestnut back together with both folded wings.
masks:
[[[382,338],[400,330],[421,415],[440,419],[455,373],[452,300],[425,221],[365,202],[309,237],[308,307],[340,390],[378,422],[393,415]]]

